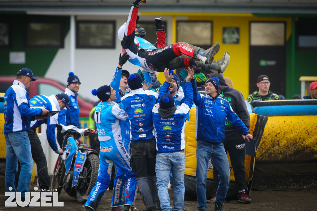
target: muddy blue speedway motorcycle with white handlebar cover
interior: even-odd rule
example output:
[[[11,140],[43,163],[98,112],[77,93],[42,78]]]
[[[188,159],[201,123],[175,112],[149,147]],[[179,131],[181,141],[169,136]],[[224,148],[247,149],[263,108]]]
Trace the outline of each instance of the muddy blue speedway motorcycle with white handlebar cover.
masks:
[[[99,169],[97,152],[87,144],[78,146],[75,140],[78,136],[94,134],[94,130],[78,128],[74,125],[64,126],[57,124],[65,135],[62,145],[63,155],[59,155],[54,167],[51,189],[57,189],[58,195],[61,190],[83,203],[84,196],[89,195],[93,189]]]

